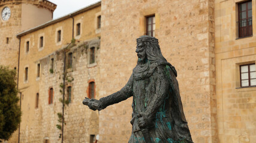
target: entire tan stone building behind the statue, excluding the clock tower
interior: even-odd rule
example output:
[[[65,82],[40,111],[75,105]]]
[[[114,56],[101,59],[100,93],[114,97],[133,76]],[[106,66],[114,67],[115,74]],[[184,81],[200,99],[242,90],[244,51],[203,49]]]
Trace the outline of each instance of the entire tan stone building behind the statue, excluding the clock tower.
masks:
[[[72,89],[71,103],[64,110],[64,142],[89,142],[97,134],[98,142],[127,142],[131,98],[100,112],[89,110],[82,100],[91,93],[91,82],[96,99],[127,83],[137,63],[136,39],[147,34],[149,17],[154,17],[154,36],[162,54],[176,67],[193,141],[254,142],[255,11],[255,0],[103,0],[19,33],[20,142],[61,141],[56,125],[57,113],[62,111],[63,75],[65,98],[70,93],[67,89]],[[246,18],[241,19],[244,14]],[[241,20],[248,24],[240,24]],[[92,47],[96,60],[90,64]],[[64,65],[70,63],[71,52],[73,66],[68,68]],[[244,67],[250,69],[243,71]],[[17,142],[17,135],[8,142]]]

